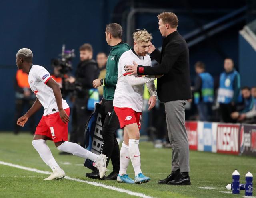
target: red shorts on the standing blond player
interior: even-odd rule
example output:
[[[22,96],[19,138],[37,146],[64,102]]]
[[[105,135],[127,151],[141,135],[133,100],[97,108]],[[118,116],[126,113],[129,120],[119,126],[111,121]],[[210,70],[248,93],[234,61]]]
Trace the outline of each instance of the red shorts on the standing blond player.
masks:
[[[137,123],[140,129],[142,112],[136,112],[133,109],[128,107],[115,107],[115,106],[114,106],[114,110],[118,117],[120,128],[124,128],[128,124]]]

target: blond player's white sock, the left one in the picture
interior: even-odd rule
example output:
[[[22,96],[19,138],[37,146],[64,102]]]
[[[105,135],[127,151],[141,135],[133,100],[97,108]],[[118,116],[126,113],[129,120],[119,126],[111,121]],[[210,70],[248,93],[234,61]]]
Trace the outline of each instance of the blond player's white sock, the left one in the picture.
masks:
[[[120,150],[120,169],[119,169],[119,175],[126,174],[127,167],[130,162],[130,155],[129,155],[129,147],[124,142],[122,144],[121,150]]]

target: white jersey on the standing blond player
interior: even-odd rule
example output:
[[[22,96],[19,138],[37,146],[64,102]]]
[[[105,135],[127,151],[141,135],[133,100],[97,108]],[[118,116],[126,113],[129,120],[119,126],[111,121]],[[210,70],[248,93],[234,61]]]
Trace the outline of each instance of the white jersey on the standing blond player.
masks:
[[[146,82],[153,81],[155,78],[146,78],[136,75],[136,78],[144,78],[144,82],[139,85],[131,86],[130,84],[132,83],[128,81],[135,81],[136,78],[129,78],[131,76],[127,76],[129,73],[124,70],[124,66],[133,65],[133,61],[138,65],[152,66],[149,55],[138,57],[133,49],[130,49],[121,55],[118,62],[118,80],[114,94],[113,106],[121,108],[128,107],[132,108],[136,112],[142,112],[144,84]]]

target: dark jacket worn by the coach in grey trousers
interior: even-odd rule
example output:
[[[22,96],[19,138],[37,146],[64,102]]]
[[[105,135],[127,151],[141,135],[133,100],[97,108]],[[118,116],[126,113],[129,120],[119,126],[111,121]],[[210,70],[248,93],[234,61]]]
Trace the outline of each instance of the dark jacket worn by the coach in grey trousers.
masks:
[[[188,45],[174,31],[163,41],[162,51],[150,56],[159,63],[154,67],[138,66],[139,75],[164,75],[157,79],[157,93],[161,102],[191,99]]]

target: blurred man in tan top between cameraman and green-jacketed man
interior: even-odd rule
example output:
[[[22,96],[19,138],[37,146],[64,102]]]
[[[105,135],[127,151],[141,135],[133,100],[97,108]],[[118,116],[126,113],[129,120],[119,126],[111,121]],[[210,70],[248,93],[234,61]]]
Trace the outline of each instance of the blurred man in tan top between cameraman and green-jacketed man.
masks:
[[[99,78],[103,79],[106,76],[106,64],[107,64],[108,57],[104,52],[99,52],[97,54],[97,59],[96,60],[97,60],[97,63],[98,63],[99,69],[100,69]],[[99,91],[99,94],[100,94],[100,100],[102,100],[103,86],[99,86],[98,91]]]

